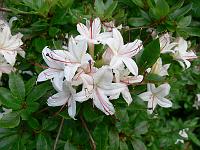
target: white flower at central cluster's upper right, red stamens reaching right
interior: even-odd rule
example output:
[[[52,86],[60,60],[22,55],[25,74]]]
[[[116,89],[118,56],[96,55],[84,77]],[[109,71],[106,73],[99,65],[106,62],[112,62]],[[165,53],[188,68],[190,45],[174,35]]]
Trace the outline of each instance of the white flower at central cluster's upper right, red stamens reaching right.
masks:
[[[111,59],[110,66],[112,69],[117,69],[124,63],[133,75],[138,75],[138,67],[132,57],[143,48],[142,41],[135,40],[124,45],[121,33],[114,28],[113,38],[107,39],[106,44],[109,48],[105,53],[109,53],[109,55],[104,54],[104,57]]]

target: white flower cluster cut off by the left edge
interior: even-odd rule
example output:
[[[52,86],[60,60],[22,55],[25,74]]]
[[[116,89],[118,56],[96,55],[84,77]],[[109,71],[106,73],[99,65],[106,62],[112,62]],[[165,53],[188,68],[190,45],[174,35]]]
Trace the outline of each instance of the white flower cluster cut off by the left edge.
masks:
[[[23,44],[21,38],[21,33],[12,36],[8,23],[0,20],[0,77],[2,73],[14,70],[17,53],[25,56],[25,52],[20,48]]]

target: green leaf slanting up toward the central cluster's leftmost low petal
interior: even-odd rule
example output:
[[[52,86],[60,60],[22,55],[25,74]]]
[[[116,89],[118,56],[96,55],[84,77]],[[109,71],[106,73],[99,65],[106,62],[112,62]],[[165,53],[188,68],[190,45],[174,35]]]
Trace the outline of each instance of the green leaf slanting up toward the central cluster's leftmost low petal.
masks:
[[[37,85],[33,88],[33,90],[29,93],[29,95],[26,98],[27,102],[34,102],[40,99],[43,95],[46,94],[46,92],[51,89],[48,83],[42,83],[40,85]]]

